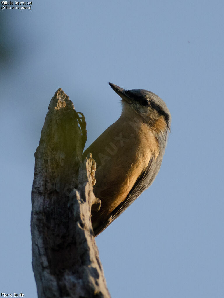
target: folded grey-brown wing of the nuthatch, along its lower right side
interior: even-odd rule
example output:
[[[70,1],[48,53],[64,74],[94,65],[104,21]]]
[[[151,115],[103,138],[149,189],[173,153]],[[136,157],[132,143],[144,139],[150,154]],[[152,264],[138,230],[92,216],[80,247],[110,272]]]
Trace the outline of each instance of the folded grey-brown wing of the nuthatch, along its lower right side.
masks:
[[[158,170],[157,167],[158,164],[156,162],[155,156],[152,156],[147,168],[136,180],[134,186],[130,190],[125,200],[111,212],[110,218],[108,218],[107,221],[94,229],[95,236],[99,235],[104,229],[106,229],[106,227],[108,227],[109,224],[112,223],[112,221],[114,221],[122,212],[124,212],[125,209],[128,208],[128,206],[130,206],[131,203],[133,203],[136,198],[152,184],[159,171],[160,165],[158,167]]]

